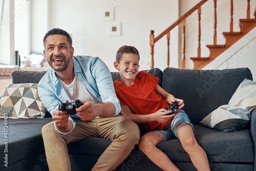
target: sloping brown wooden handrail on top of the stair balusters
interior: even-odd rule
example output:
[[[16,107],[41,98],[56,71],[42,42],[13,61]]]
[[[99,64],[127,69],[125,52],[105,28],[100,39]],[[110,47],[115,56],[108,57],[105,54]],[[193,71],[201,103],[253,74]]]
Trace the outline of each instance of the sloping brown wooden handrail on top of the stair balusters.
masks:
[[[187,16],[192,14],[194,11],[196,11],[198,9],[198,7],[201,7],[206,1],[208,1],[208,0],[202,0],[197,5],[195,5],[195,7],[191,8],[188,12],[186,12],[184,15],[182,15],[174,24],[172,24],[170,27],[168,27],[166,30],[164,30],[161,34],[159,34],[159,36],[157,36],[155,38],[154,42],[157,42],[161,37],[163,37],[165,34],[167,34],[170,30],[172,30],[173,28],[178,26],[182,22],[182,20],[184,20]]]

